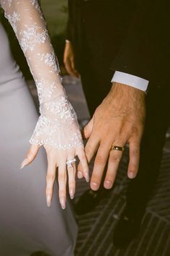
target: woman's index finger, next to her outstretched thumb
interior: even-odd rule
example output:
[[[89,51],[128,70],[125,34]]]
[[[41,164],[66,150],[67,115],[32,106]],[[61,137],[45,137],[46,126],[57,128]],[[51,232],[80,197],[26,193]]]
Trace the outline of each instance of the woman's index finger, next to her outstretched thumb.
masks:
[[[46,199],[47,205],[50,207],[53,197],[53,185],[55,182],[56,165],[48,159],[48,172],[46,175]]]

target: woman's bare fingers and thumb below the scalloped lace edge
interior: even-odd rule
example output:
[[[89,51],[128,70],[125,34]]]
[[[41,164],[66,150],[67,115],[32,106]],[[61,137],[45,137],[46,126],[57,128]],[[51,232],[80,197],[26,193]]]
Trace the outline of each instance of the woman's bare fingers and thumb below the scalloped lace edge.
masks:
[[[73,158],[78,156],[81,166],[84,169],[84,177],[86,182],[89,182],[89,167],[86,161],[86,155],[84,153],[84,148],[71,148],[68,150],[59,150],[53,148],[50,145],[44,145],[48,158],[48,171],[46,176],[46,198],[47,205],[50,206],[53,197],[53,184],[56,177],[56,168],[58,168],[58,185],[59,185],[59,199],[61,202],[61,207],[66,208],[66,182],[68,179],[68,189],[71,199],[73,199],[76,190],[76,163],[73,162],[69,167],[66,161],[73,160]],[[32,163],[37,155],[39,145],[31,145],[30,150],[28,150],[24,161],[21,164],[21,168]]]

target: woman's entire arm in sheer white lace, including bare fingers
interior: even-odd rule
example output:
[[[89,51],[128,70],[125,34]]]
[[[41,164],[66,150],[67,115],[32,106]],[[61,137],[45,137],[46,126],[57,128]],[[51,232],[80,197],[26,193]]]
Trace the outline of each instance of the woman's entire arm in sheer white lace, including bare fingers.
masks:
[[[89,170],[76,113],[61,85],[58,61],[51,46],[38,1],[0,0],[0,3],[27,58],[40,100],[40,118],[30,139],[32,146],[21,167],[31,163],[40,145],[44,145],[48,157],[47,204],[50,206],[55,171],[58,167],[59,197],[62,208],[65,208],[66,167],[68,167],[69,192],[73,198],[76,155],[84,166],[86,181],[89,180]],[[73,160],[73,163],[67,166],[66,161],[70,160]]]

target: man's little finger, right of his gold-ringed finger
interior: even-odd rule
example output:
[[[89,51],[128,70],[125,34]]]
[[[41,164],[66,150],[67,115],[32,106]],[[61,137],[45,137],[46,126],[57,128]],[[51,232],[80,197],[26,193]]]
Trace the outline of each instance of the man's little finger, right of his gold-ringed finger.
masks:
[[[140,159],[140,143],[138,140],[129,143],[130,161],[128,165],[128,177],[134,179],[138,173]]]

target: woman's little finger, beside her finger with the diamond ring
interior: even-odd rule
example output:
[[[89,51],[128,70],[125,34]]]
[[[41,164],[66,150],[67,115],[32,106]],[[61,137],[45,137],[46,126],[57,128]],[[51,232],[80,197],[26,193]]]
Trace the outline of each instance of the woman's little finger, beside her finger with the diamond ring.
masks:
[[[81,149],[77,155],[80,160],[80,163],[78,166],[78,178],[81,179],[84,176],[84,178],[86,179],[86,182],[89,182],[89,165],[87,162],[86,154],[84,150]]]

